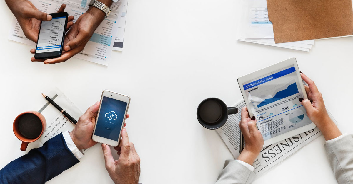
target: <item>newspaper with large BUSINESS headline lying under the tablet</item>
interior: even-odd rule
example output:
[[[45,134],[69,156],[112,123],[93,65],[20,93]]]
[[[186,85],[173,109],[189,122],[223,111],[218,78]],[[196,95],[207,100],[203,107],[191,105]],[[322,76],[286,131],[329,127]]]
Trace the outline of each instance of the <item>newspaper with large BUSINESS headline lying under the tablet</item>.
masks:
[[[239,110],[245,107],[245,102],[240,101],[234,105]],[[330,118],[337,124],[336,120],[332,117],[331,113],[327,110]],[[216,129],[216,132],[221,137],[229,151],[232,153],[234,159],[239,156],[240,147],[240,113],[229,115],[227,122],[221,128]],[[310,141],[322,135],[321,131],[317,128],[311,129],[307,132],[287,138],[275,144],[264,147],[259,156],[252,164],[255,167],[254,172],[261,175],[271,167],[274,167],[282,160],[291,156],[294,152],[298,151],[301,147],[307,145]]]

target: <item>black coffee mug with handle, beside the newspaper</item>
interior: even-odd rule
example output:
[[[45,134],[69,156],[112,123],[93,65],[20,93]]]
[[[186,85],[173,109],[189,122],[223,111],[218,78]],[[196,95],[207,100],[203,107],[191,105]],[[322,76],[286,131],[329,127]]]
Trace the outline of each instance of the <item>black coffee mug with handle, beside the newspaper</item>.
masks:
[[[199,123],[208,129],[217,129],[227,122],[229,114],[237,114],[238,108],[227,107],[217,98],[208,98],[197,107],[196,116]]]

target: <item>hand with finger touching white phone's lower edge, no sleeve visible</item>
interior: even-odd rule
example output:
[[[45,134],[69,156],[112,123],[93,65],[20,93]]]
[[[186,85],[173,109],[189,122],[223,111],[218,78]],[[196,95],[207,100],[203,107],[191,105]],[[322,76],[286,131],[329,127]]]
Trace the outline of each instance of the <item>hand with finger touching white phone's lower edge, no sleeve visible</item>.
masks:
[[[120,155],[114,160],[110,148],[102,144],[106,169],[115,184],[137,184],[140,177],[140,157],[134,145],[129,142],[126,129],[122,129],[120,146],[115,147]]]

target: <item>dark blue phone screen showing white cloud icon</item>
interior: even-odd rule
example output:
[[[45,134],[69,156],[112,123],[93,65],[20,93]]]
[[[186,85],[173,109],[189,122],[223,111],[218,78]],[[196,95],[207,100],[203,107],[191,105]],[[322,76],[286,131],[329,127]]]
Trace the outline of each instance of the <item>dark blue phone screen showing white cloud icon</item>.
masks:
[[[119,141],[127,102],[103,96],[94,135]]]

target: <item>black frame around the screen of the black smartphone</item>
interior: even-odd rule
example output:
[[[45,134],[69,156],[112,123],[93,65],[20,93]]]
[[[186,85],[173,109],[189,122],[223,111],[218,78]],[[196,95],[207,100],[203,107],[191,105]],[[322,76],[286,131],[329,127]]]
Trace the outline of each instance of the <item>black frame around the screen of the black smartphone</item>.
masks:
[[[40,32],[39,32],[39,34],[38,34],[38,39],[37,39],[37,44],[36,44],[36,53],[34,54],[34,58],[36,58],[36,59],[56,58],[56,57],[60,57],[61,54],[62,54],[62,47],[63,47],[63,45],[64,45],[64,36],[65,36],[65,32],[66,32],[68,13],[67,13],[67,12],[50,13],[49,15],[52,15],[53,18],[56,18],[56,17],[65,17],[65,26],[64,26],[65,30],[64,30],[64,32],[62,33],[60,51],[37,53],[38,40],[39,40],[39,36],[40,36]],[[53,19],[52,19],[52,20],[53,20]],[[51,20],[50,20],[50,21],[51,21]],[[41,22],[41,25],[40,25],[40,27],[39,27],[39,30],[41,30],[41,27],[42,27],[42,22]]]

